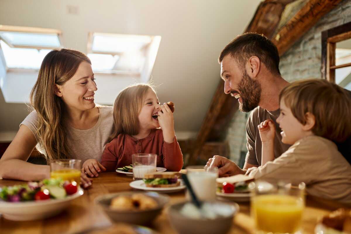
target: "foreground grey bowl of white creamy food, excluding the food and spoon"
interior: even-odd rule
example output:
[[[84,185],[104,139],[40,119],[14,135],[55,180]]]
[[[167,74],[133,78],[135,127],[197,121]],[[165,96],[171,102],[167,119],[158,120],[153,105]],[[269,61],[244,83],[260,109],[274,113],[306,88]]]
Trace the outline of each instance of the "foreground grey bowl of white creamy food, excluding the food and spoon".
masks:
[[[222,210],[226,213],[225,216],[217,216],[216,218],[192,218],[185,216],[181,210],[188,201],[176,203],[168,208],[168,219],[174,229],[180,234],[224,234],[227,233],[232,224],[233,217],[239,211],[237,203],[224,202],[207,202],[216,209]]]

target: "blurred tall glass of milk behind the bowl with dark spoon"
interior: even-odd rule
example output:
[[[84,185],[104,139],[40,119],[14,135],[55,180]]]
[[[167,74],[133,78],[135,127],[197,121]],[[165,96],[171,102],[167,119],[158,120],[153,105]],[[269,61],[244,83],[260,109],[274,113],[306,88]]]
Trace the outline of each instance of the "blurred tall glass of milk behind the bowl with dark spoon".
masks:
[[[216,200],[216,179],[218,178],[217,167],[207,168],[205,170],[204,166],[189,166],[186,168],[186,175],[199,200]],[[191,200],[188,191],[186,192],[186,197],[188,200]]]

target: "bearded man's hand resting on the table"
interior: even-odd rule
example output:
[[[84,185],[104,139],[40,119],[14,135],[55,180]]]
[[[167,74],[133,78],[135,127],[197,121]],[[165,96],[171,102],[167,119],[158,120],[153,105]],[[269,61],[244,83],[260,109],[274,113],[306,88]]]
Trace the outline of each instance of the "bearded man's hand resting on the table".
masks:
[[[219,177],[246,173],[246,170],[240,169],[233,161],[219,155],[214,155],[213,158],[208,160],[205,169],[211,167],[218,167]]]

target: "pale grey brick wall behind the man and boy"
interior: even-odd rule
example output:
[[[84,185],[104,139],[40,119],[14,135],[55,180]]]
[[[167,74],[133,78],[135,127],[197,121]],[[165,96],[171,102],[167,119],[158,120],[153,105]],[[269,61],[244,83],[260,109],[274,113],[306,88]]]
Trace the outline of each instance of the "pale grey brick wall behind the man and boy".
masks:
[[[280,58],[280,72],[289,82],[307,78],[321,78],[322,31],[351,21],[351,0],[342,1],[322,17],[298,42]],[[246,154],[246,121],[249,113],[236,112],[227,132],[230,159],[239,162]],[[244,151],[244,153],[242,153]]]

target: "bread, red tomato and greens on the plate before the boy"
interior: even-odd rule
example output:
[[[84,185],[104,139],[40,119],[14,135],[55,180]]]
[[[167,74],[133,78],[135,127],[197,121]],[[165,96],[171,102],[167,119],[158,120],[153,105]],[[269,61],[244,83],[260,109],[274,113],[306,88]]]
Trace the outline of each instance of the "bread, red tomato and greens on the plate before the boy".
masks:
[[[233,175],[217,178],[217,191],[221,193],[246,193],[249,192],[247,185],[253,179],[246,175]]]

